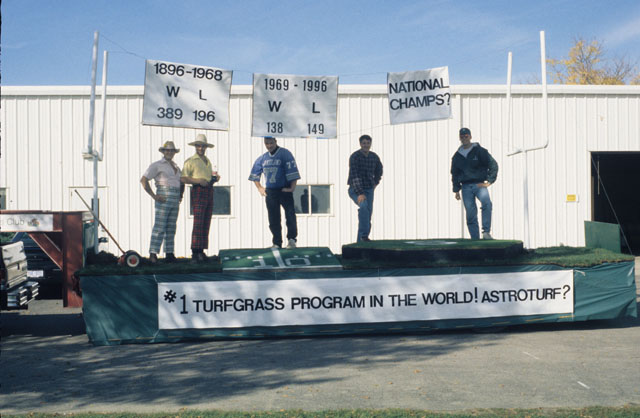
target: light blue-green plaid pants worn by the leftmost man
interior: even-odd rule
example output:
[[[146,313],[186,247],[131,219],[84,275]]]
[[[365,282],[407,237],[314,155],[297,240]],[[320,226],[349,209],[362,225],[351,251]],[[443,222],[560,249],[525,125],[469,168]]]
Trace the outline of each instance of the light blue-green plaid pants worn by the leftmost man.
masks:
[[[164,252],[173,253],[176,236],[176,222],[178,220],[178,211],[180,210],[180,188],[158,186],[156,188],[158,196],[164,196],[166,202],[158,202],[155,204],[155,220],[153,222],[153,230],[151,231],[151,245],[149,252],[158,254],[162,241],[164,241]]]

